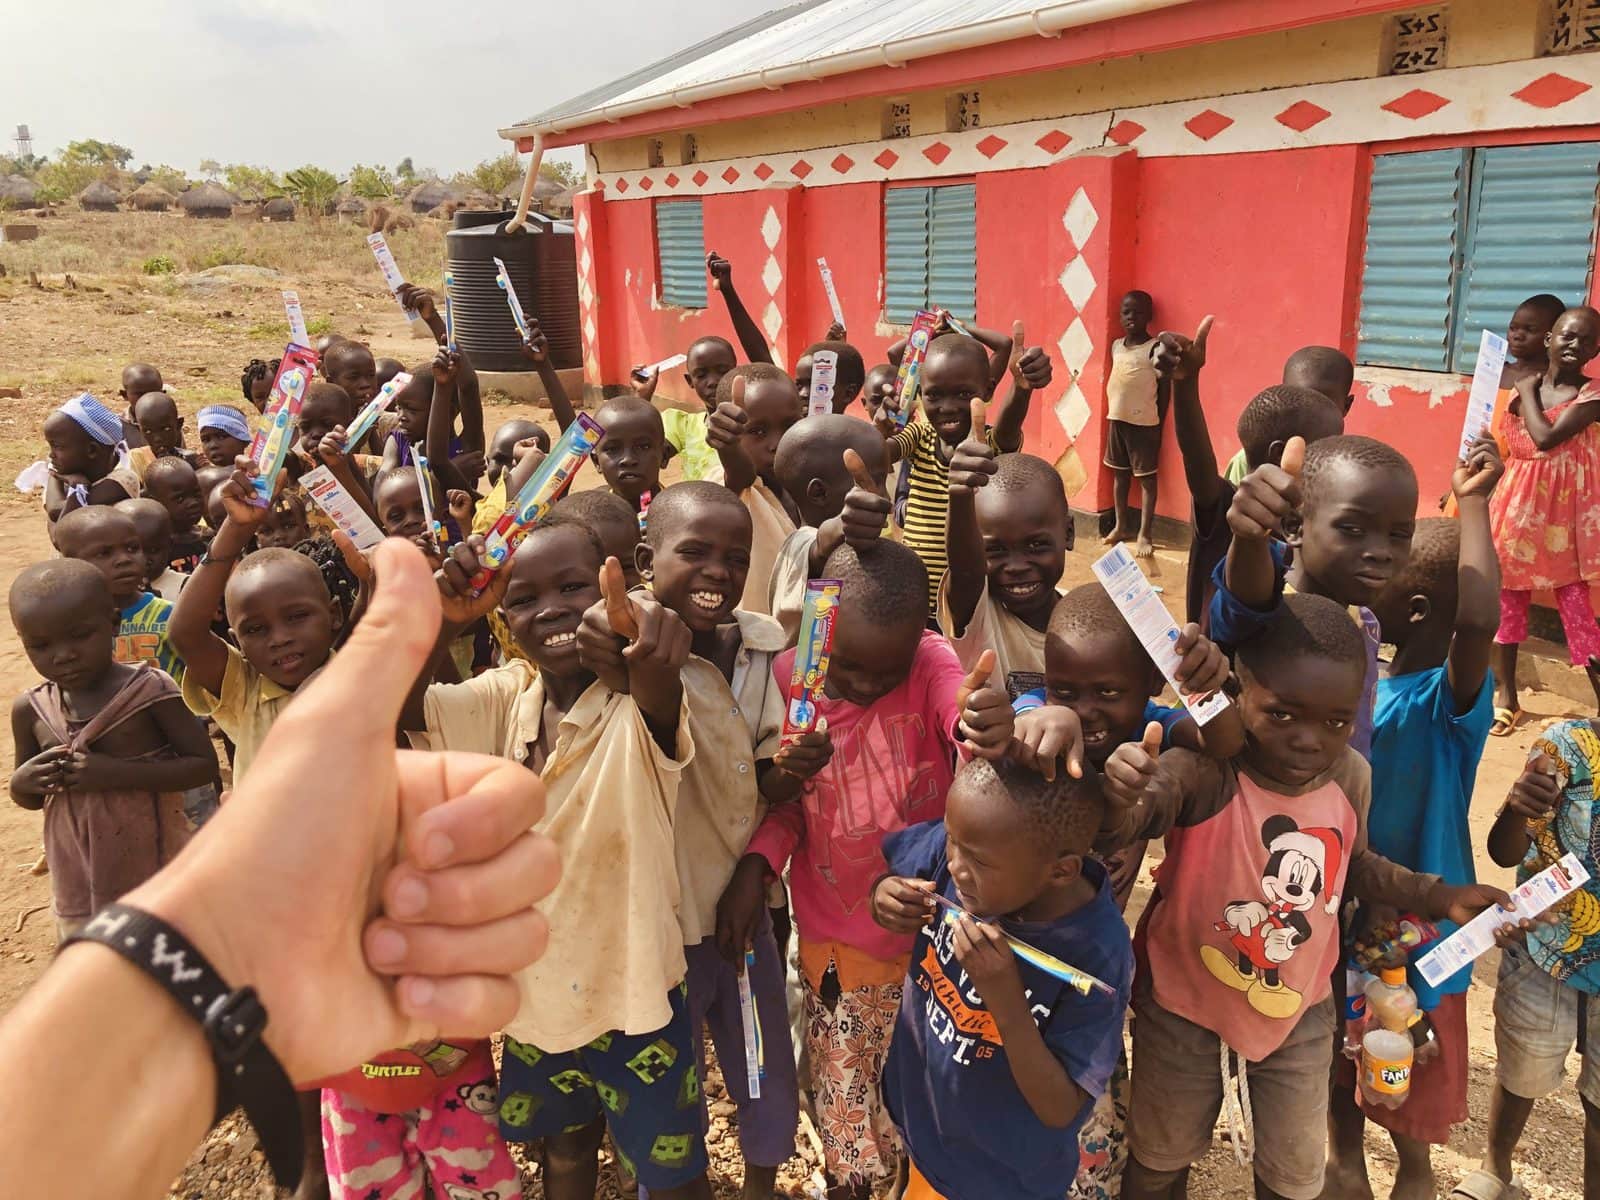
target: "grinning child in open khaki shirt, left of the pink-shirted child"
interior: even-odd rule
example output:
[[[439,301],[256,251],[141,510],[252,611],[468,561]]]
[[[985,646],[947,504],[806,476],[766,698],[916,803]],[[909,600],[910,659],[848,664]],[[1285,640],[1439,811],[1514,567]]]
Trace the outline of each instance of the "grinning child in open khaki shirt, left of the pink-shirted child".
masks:
[[[726,1064],[723,1082],[739,1106],[742,1195],[771,1200],[778,1166],[794,1154],[798,1118],[784,960],[765,920],[750,946],[720,941],[717,901],[763,808],[798,798],[827,760],[827,738],[808,733],[779,749],[786,688],[773,677],[773,656],[787,643],[776,621],[736,608],[750,566],[750,514],[731,491],[704,480],[662,491],[650,506],[638,563],[656,600],[683,618],[693,635],[683,675],[691,693],[690,736],[699,754],[683,768],[672,814],[690,1027],[696,1046],[709,1027],[717,1059]],[[766,1064],[757,1099],[741,1069],[750,1050],[739,1010],[747,952],[754,954],[749,982]]]

